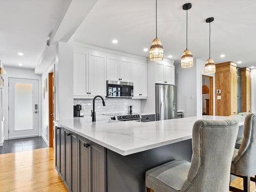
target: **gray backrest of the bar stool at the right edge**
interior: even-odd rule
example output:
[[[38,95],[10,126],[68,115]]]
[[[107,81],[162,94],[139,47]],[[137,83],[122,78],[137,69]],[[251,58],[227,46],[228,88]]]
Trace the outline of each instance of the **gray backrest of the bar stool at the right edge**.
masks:
[[[236,174],[256,175],[256,114],[245,117],[242,144],[232,163]]]

